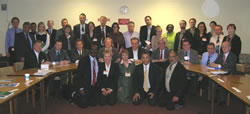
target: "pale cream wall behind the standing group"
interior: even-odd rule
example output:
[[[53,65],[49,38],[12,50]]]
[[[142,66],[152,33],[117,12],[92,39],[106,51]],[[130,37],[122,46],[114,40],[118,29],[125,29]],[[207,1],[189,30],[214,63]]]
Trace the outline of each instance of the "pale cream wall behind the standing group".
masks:
[[[204,6],[205,1],[210,4]],[[96,25],[99,24],[97,19],[102,15],[110,18],[108,25],[118,18],[130,18],[136,23],[136,31],[145,24],[146,15],[150,15],[153,18],[153,24],[161,25],[164,30],[167,24],[174,24],[176,32],[179,31],[179,20],[188,21],[191,17],[196,18],[197,23],[204,21],[207,25],[211,20],[215,20],[225,29],[229,23],[235,23],[237,34],[243,42],[242,52],[250,53],[248,50],[250,45],[247,45],[250,41],[248,38],[250,36],[249,0],[2,0],[0,3],[2,2],[8,3],[8,11],[0,11],[0,53],[4,53],[3,41],[7,23],[13,16],[19,17],[21,24],[24,21],[46,22],[48,19],[53,19],[55,28],[60,28],[60,20],[64,17],[68,18],[71,25],[79,23],[78,16],[82,12]],[[123,5],[129,7],[128,14],[120,13],[120,7]],[[202,6],[207,8],[206,12],[219,15],[207,17]],[[215,11],[216,9],[219,9],[219,12]],[[224,32],[227,34],[225,29]],[[121,26],[122,32],[126,30],[126,26]],[[208,30],[210,30],[209,27]]]

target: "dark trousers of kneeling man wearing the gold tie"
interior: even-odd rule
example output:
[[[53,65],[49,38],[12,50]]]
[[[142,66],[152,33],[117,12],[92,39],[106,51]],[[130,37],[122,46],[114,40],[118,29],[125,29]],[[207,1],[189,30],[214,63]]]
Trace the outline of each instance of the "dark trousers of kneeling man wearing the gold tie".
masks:
[[[154,97],[152,99],[150,99],[148,93],[146,92],[142,92],[142,93],[139,93],[140,94],[140,98],[137,100],[137,101],[133,101],[133,104],[135,105],[139,105],[141,104],[145,99],[148,100],[148,104],[150,105],[155,105],[156,104],[156,95],[154,95]]]

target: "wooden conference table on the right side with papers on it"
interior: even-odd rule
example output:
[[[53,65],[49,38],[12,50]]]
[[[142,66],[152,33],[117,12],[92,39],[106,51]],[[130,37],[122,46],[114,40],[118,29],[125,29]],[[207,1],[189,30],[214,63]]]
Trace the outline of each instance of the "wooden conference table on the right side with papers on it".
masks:
[[[211,114],[214,114],[215,84],[220,85],[229,93],[235,95],[243,101],[246,105],[246,114],[249,114],[248,107],[250,106],[250,100],[247,96],[250,96],[250,75],[212,75],[211,71],[215,70],[208,69],[206,66],[194,64],[184,66],[187,70],[200,73],[203,76],[207,76],[211,80]]]

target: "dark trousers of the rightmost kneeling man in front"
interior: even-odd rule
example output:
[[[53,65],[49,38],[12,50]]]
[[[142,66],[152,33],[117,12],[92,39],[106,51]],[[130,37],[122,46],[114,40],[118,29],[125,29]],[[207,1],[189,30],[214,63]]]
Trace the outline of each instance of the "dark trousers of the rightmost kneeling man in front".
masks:
[[[173,102],[174,95],[171,92],[164,92],[160,95],[158,99],[158,104],[161,107],[167,107],[168,110],[174,110],[175,109],[175,104],[184,104],[184,99],[183,97],[179,97],[179,101]]]

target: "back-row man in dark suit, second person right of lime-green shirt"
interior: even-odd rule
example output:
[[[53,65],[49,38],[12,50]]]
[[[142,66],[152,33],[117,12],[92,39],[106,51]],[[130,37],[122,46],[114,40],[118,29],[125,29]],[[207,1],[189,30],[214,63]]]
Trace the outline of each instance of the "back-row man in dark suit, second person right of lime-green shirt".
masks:
[[[189,19],[189,25],[190,25],[190,28],[187,29],[187,31],[189,33],[191,33],[192,35],[192,40],[193,40],[193,43],[192,43],[192,48],[196,51],[198,51],[199,49],[199,29],[196,28],[196,19],[195,18],[191,18]]]

